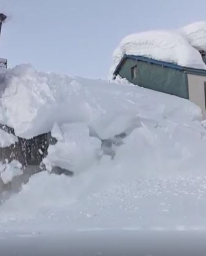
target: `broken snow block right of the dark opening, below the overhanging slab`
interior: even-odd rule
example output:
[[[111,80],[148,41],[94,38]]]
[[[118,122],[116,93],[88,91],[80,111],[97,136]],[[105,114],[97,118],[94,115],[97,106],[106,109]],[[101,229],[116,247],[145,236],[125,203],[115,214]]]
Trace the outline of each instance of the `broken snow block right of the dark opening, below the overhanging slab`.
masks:
[[[51,134],[56,131],[56,125],[53,129]],[[61,131],[61,140],[49,146],[48,156],[44,159],[47,169],[58,166],[80,172],[92,165],[101,141],[89,136],[89,128],[84,123],[64,124]]]

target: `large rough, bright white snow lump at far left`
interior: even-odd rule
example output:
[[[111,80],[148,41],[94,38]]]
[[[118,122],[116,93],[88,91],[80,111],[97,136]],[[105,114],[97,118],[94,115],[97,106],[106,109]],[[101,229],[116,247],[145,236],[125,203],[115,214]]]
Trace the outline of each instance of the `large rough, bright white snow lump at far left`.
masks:
[[[33,129],[38,114],[41,123],[41,113],[49,111],[54,103],[53,92],[31,65],[15,67],[5,79],[7,88],[2,95],[0,116],[3,123],[16,128],[16,135],[21,135]],[[39,134],[38,126],[35,129]]]

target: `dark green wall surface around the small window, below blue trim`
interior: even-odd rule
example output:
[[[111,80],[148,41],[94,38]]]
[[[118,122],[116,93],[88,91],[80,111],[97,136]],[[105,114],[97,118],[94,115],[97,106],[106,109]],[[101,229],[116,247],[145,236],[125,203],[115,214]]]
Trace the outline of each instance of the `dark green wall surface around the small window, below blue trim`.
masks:
[[[131,78],[131,68],[137,65],[137,77]],[[173,94],[188,99],[186,73],[143,61],[126,59],[118,71],[129,82],[155,91]]]

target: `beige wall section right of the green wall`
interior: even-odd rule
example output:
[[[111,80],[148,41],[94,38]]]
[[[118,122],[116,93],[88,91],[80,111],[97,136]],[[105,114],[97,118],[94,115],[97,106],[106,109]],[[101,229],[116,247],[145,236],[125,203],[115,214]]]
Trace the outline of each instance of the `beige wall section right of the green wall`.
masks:
[[[188,74],[189,99],[202,109],[202,117],[206,118],[204,82],[206,76]]]

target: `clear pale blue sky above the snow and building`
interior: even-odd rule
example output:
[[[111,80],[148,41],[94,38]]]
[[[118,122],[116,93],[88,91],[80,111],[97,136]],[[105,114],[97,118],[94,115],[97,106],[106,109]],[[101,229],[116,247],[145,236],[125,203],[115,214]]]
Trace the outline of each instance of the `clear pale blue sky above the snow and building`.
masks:
[[[9,67],[104,79],[124,36],[206,20],[206,0],[0,0],[0,12]]]

